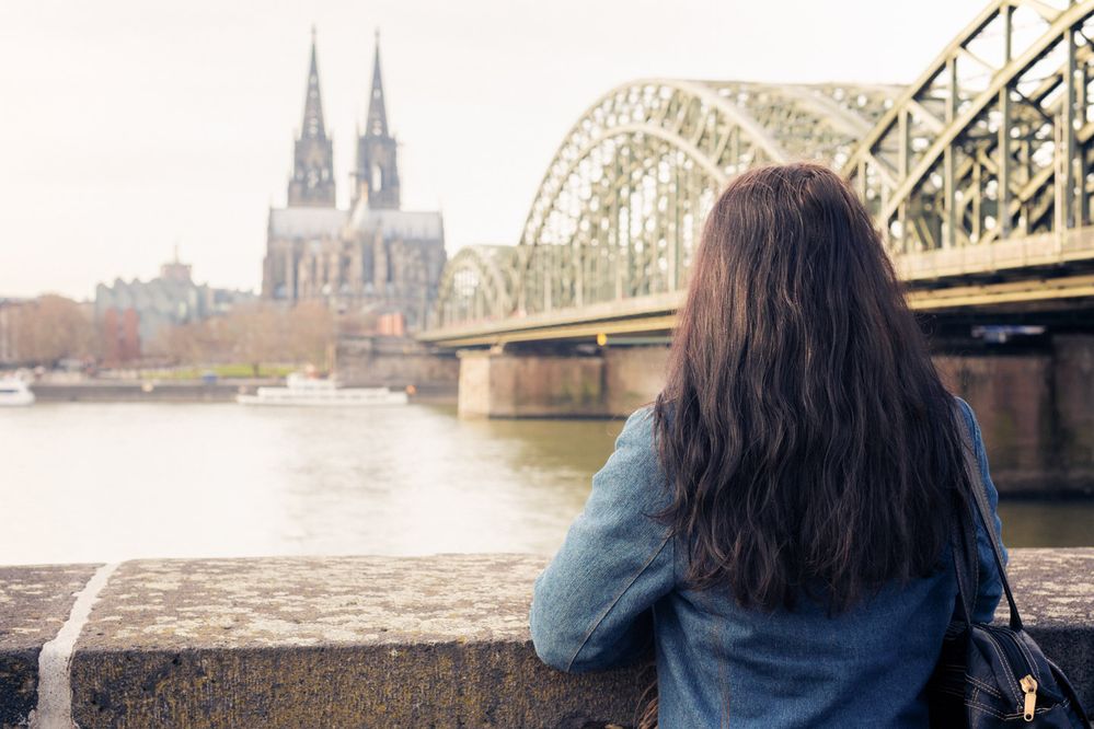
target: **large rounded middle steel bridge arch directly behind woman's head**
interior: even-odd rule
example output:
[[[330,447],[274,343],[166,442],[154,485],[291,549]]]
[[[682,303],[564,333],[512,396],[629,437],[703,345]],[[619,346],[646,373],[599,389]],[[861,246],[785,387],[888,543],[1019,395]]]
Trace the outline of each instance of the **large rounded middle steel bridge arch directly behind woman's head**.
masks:
[[[611,90],[548,165],[520,239],[515,313],[677,290],[729,177],[758,164],[845,158],[876,116],[862,108],[879,111],[895,94],[659,79]]]

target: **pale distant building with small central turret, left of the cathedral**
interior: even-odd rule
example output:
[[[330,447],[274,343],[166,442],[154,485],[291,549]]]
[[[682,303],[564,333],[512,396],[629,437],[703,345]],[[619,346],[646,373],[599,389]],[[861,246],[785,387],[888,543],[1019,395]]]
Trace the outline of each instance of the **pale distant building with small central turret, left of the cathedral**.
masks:
[[[119,278],[112,286],[100,284],[95,288],[95,321],[103,337],[103,360],[138,359],[165,327],[223,314],[254,298],[250,291],[195,284],[189,264],[181,263],[177,254],[150,281]]]

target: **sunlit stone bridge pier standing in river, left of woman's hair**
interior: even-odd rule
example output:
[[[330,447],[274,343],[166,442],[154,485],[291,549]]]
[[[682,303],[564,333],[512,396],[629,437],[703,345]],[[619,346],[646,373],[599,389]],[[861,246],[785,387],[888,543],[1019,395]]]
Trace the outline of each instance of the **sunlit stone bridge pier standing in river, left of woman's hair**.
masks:
[[[460,417],[630,415],[664,384],[667,347],[606,347],[592,355],[460,352]]]

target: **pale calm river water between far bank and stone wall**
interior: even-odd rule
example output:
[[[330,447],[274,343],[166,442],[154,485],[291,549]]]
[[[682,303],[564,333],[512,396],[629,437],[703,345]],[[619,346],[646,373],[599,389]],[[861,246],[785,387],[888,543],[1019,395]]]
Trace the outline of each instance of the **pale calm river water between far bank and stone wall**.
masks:
[[[140,557],[549,555],[623,420],[426,405],[0,410],[0,565]],[[1005,501],[1009,546],[1094,545],[1094,501]]]

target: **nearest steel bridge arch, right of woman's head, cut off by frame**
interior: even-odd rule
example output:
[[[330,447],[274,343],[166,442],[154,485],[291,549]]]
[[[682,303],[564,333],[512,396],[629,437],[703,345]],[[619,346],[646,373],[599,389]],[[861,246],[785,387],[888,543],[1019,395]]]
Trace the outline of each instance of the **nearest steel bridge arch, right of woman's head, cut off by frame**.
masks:
[[[1091,220],[1094,2],[997,0],[842,165],[896,256]]]

